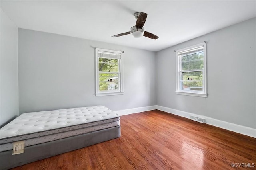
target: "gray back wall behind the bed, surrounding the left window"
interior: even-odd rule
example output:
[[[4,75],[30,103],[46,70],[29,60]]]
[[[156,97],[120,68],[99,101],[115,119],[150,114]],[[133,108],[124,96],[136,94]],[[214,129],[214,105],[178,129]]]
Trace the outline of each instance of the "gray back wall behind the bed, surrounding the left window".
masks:
[[[95,96],[94,47],[124,51],[124,95]],[[156,104],[155,52],[19,28],[18,56],[20,113]]]

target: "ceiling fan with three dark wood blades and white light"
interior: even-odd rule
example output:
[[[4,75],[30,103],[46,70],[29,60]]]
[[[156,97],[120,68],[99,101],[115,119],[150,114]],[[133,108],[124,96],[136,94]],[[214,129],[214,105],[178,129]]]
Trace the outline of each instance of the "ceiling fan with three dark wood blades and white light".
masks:
[[[120,33],[120,34],[117,34],[117,35],[113,35],[112,37],[120,37],[120,36],[132,33],[132,36],[135,37],[135,38],[142,37],[142,35],[143,35],[144,37],[148,37],[148,38],[152,38],[152,39],[158,39],[158,36],[156,36],[152,33],[149,33],[147,31],[144,31],[143,25],[146,22],[147,15],[148,14],[146,14],[144,12],[135,12],[134,16],[137,19],[137,21],[136,21],[136,25],[131,27],[131,31],[126,32],[126,33]]]

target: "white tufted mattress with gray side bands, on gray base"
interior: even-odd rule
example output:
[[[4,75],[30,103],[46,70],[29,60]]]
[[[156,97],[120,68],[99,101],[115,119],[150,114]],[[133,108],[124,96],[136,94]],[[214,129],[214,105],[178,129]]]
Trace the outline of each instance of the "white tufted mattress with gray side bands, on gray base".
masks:
[[[0,129],[0,152],[14,141],[36,145],[120,125],[120,116],[105,106],[23,113]]]

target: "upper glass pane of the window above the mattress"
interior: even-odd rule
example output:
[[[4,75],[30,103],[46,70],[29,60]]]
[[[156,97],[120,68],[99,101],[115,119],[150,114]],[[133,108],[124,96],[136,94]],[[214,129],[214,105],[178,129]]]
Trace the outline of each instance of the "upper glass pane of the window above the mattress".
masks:
[[[99,71],[119,72],[119,59],[99,58]]]

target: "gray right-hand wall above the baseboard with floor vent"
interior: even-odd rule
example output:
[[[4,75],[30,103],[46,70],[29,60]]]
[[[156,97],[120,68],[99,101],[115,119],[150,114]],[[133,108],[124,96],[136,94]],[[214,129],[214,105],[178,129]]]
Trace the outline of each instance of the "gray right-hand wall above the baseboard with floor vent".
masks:
[[[256,128],[256,18],[156,53],[157,105]],[[207,41],[208,97],[175,93],[174,50]]]

